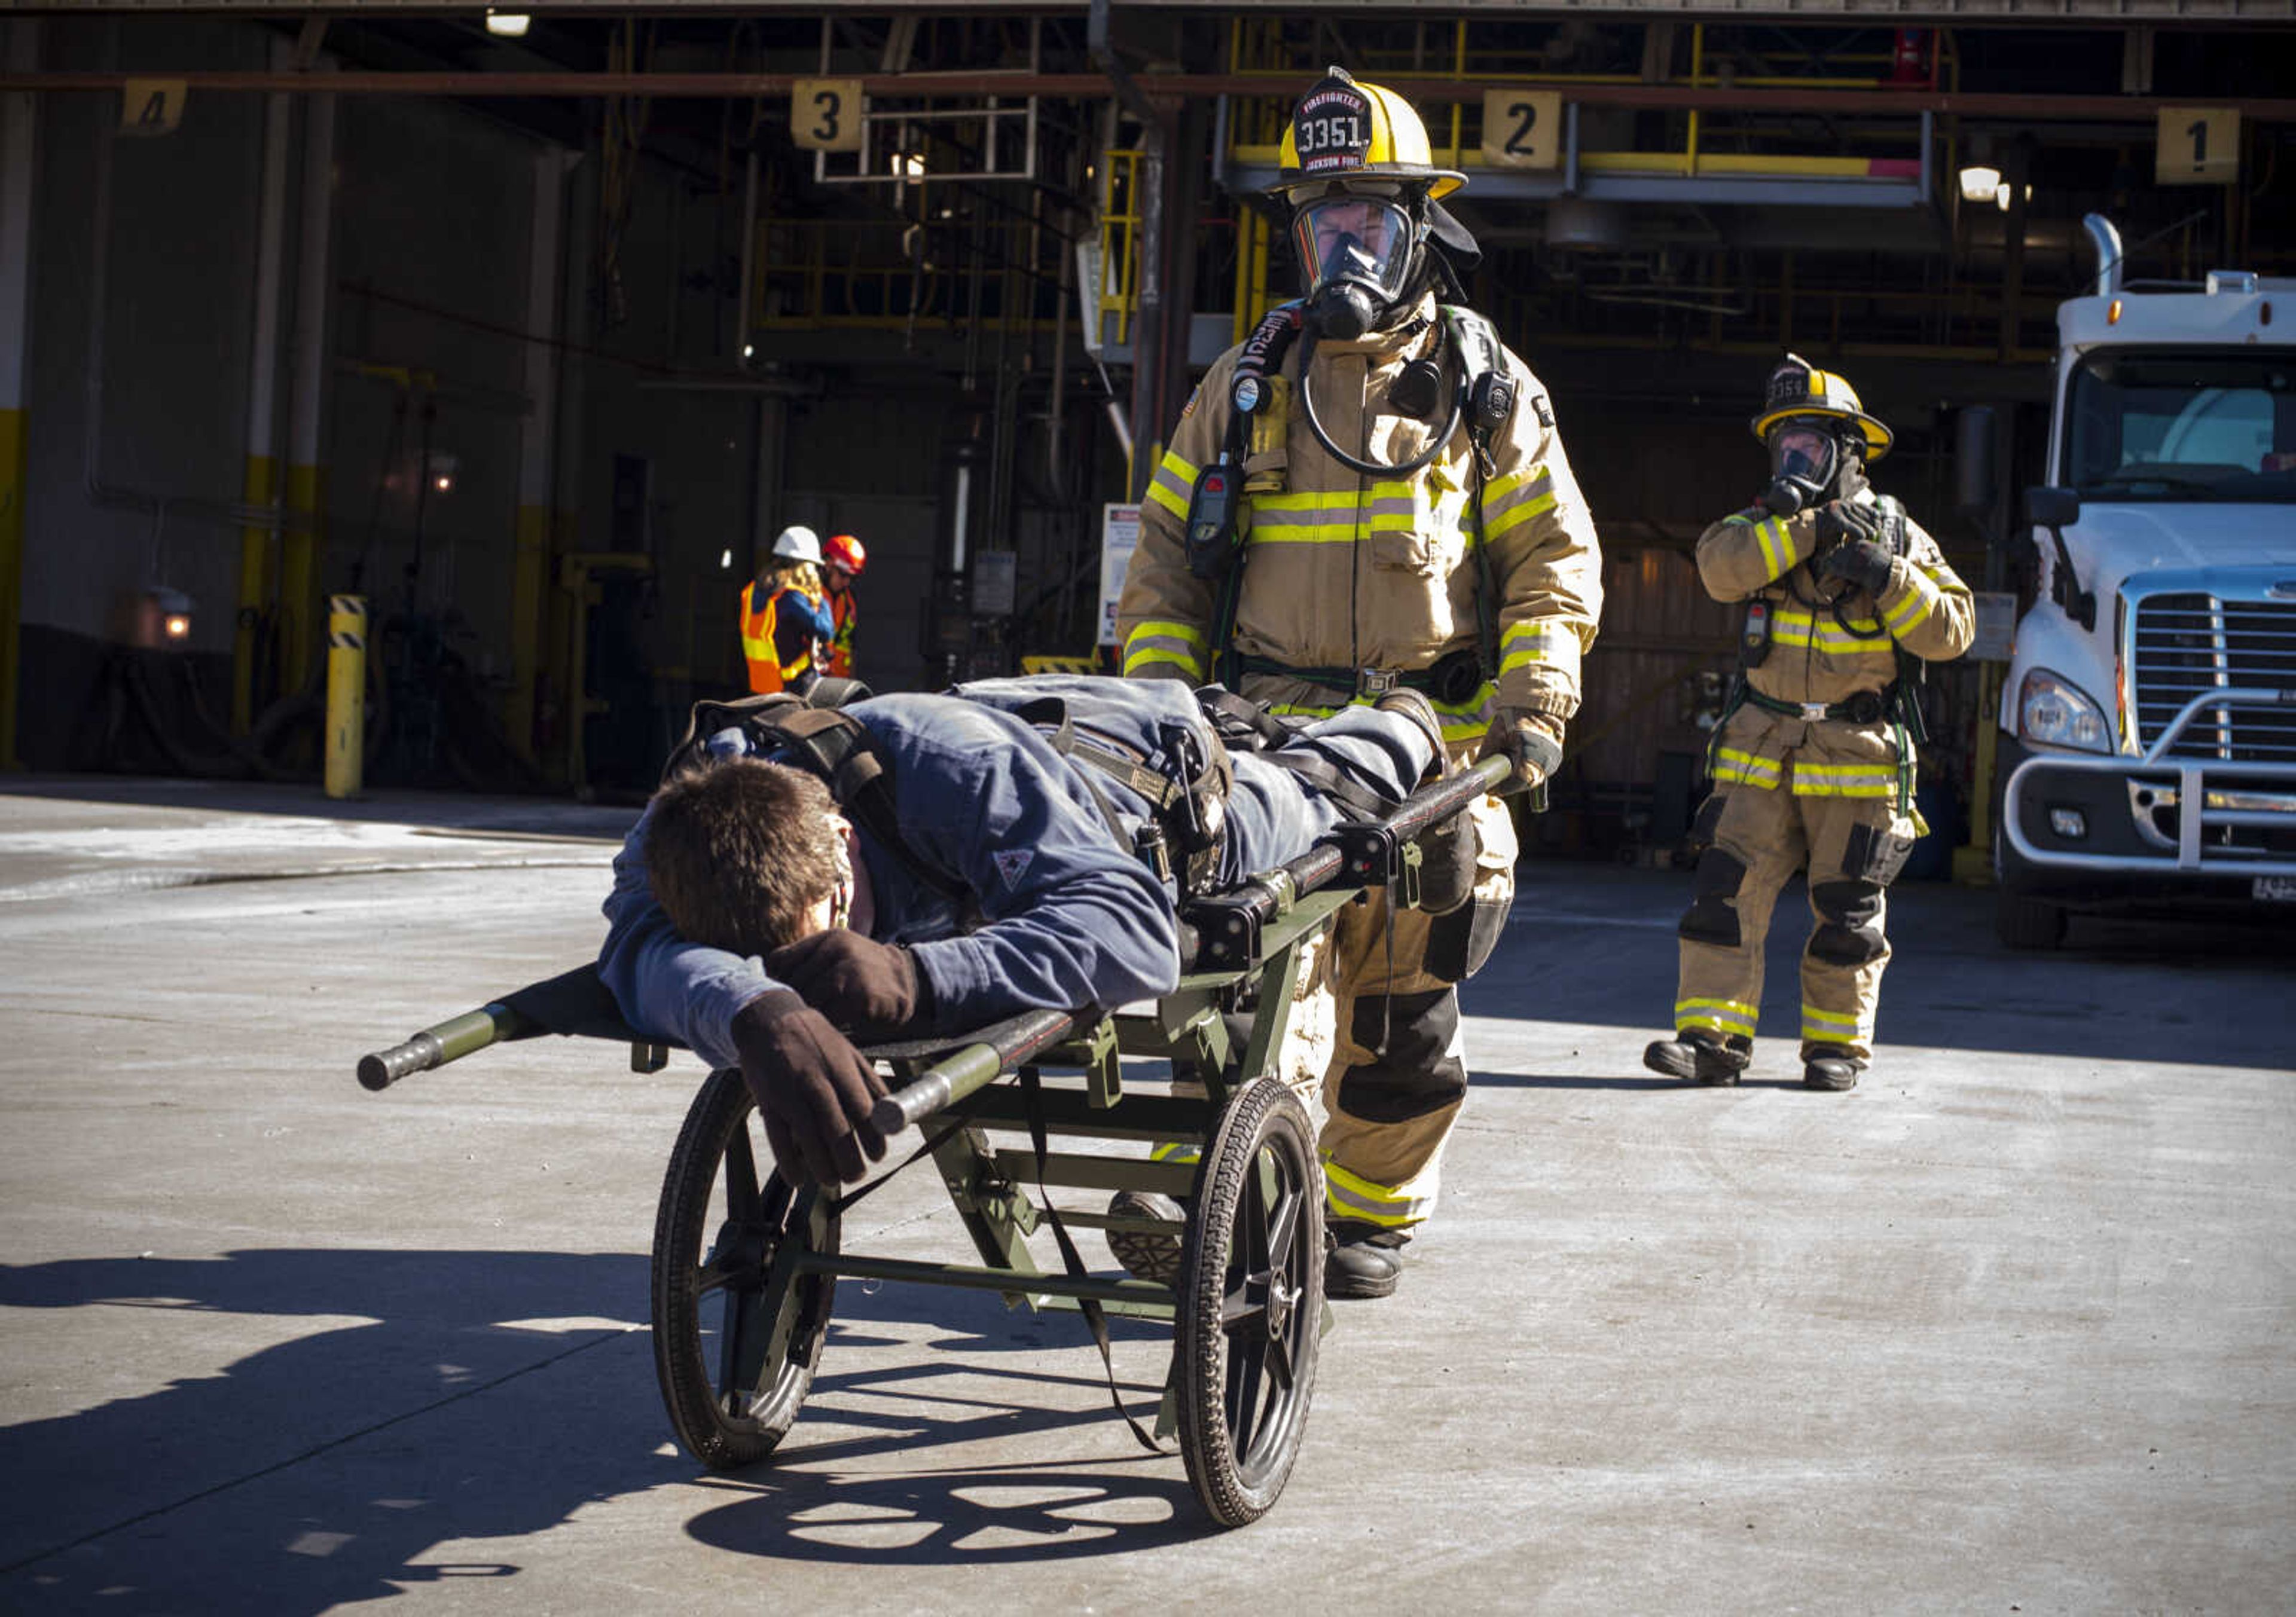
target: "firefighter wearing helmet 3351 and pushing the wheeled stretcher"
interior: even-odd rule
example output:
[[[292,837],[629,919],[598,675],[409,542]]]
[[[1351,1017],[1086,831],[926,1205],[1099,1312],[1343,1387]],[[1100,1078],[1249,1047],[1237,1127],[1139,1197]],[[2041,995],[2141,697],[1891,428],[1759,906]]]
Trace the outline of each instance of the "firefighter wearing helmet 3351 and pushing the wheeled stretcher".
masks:
[[[1217,680],[1274,714],[1424,696],[1453,763],[1502,751],[1527,790],[1561,760],[1603,572],[1545,388],[1463,308],[1474,237],[1440,204],[1460,184],[1394,92],[1334,67],[1300,99],[1270,195],[1306,296],[1182,411],[1116,627],[1127,675]],[[1453,985],[1513,900],[1506,806],[1469,822],[1449,898],[1352,905],[1332,944],[1332,1295],[1391,1293],[1435,1206],[1467,1093]]]

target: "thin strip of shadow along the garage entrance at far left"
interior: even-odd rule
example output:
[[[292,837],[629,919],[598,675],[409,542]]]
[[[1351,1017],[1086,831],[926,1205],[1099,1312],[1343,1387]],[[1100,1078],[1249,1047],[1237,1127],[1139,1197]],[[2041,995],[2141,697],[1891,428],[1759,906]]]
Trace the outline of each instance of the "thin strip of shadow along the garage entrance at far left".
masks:
[[[34,774],[9,776],[0,797],[78,804],[133,804],[188,813],[269,813],[363,825],[418,825],[441,836],[620,843],[636,804],[583,804],[572,797],[475,797],[381,788],[338,802],[317,783],[197,781],[188,776]]]

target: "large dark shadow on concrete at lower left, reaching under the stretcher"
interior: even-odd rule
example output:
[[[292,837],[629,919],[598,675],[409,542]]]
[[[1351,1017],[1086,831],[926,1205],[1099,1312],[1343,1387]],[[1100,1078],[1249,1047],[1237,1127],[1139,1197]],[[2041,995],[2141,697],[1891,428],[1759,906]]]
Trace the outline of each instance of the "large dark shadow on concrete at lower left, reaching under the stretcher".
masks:
[[[448,1564],[432,1550],[501,1539],[530,1553],[530,1534],[583,1504],[709,1481],[668,1442],[645,1295],[647,1261],[631,1254],[243,1250],[0,1268],[0,1307],[83,1312],[83,1339],[87,1312],[110,1316],[119,1348],[99,1346],[92,1357],[133,1364],[113,1374],[135,1385],[168,1376],[165,1360],[145,1369],[172,1330],[154,1314],[234,1316],[191,1328],[202,1344],[216,1332],[273,1341],[220,1374],[0,1429],[0,1475],[14,1479],[14,1504],[0,1516],[0,1606],[319,1612],[416,1583],[514,1578],[514,1562]],[[1111,1328],[1125,1401],[1153,1419],[1162,1357],[1125,1344],[1164,1332],[1130,1321]],[[11,1330],[23,1341],[30,1325],[18,1316]],[[303,1334],[278,1339],[289,1332]],[[815,1539],[815,1516],[850,1514],[856,1498],[877,1500],[884,1516],[891,1500],[905,1500],[900,1509],[944,1523],[941,1553],[957,1555],[992,1523],[1068,1521],[1061,1511],[1075,1507],[1063,1500],[1088,1486],[1118,1500],[1104,1507],[1116,1511],[1104,1534],[1070,1523],[1061,1541],[996,1553],[1070,1555],[1077,1534],[1097,1548],[1134,1548],[1141,1532],[1148,1541],[1194,1532],[1201,1518],[1182,1509],[1187,1484],[1176,1468],[1134,1479],[1120,1465],[1100,1475],[1093,1461],[1052,1461],[1095,1481],[1063,1481],[1061,1500],[1033,1514],[1003,1495],[985,1502],[983,1491],[1035,1468],[907,1468],[939,1442],[1003,1445],[1063,1429],[1088,1429],[1079,1449],[1107,1454],[1097,1429],[1116,1415],[1097,1364],[1091,1376],[1042,1376],[999,1357],[1081,1341],[1077,1318],[1008,1316],[994,1293],[847,1282],[824,1374],[776,1456],[783,1468],[817,1461],[840,1475],[751,1468],[723,1481],[746,1491],[742,1504],[707,1511],[698,1537],[730,1534],[762,1555],[854,1555],[836,1546],[838,1534]],[[886,1344],[918,1362],[838,1371],[840,1348]],[[186,1357],[209,1362],[207,1353]],[[980,1394],[983,1380],[994,1394]],[[76,1385],[103,1380],[92,1374]],[[859,1484],[843,1475],[872,1456],[900,1456],[905,1470]]]

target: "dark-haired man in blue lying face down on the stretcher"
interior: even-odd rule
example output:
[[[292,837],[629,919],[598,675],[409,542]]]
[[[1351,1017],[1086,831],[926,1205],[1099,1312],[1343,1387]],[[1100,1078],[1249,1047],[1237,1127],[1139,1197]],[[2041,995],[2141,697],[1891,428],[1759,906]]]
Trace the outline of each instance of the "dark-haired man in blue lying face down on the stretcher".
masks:
[[[631,1027],[739,1066],[783,1174],[822,1183],[884,1155],[868,1121],[884,1084],[847,1036],[955,1034],[1173,988],[1176,891],[1137,852],[1155,818],[1143,790],[1217,756],[1194,694],[1164,680],[980,680],[847,712],[886,765],[877,827],[755,756],[753,733],[705,737],[707,763],[657,792],[615,857],[599,951]],[[1070,740],[1081,746],[1063,751]],[[1343,818],[1336,795],[1396,802],[1435,763],[1428,730],[1371,707],[1304,726],[1277,753],[1233,753],[1205,875],[1226,887],[1283,864]]]

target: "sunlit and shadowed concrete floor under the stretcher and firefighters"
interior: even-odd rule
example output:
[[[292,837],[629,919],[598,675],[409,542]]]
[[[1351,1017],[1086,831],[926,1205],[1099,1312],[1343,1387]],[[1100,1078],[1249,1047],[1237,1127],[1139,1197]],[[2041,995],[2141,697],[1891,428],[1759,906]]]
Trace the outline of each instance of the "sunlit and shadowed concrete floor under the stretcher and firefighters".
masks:
[[[627,813],[9,781],[0,1606],[2287,1610],[2296,937],[1991,942],[1908,887],[1883,1063],[1649,1077],[1688,877],[1534,864],[1403,1291],[1290,1488],[1208,1532],[1072,1316],[840,1289],[783,1461],[647,1346],[698,1068],[351,1061],[583,960]],[[1770,1027],[1791,1034],[1793,937]],[[937,1185],[850,1250],[962,1256]],[[1097,1252],[1088,1247],[1088,1252]],[[1153,1406],[1162,1341],[1118,1328]]]

